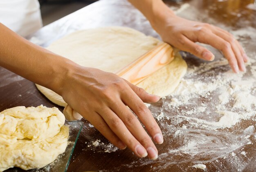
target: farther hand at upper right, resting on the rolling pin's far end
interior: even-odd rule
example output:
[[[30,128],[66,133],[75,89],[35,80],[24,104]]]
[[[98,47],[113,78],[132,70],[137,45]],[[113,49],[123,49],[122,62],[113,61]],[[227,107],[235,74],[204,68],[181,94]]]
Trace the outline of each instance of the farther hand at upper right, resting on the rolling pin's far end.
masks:
[[[221,28],[186,20],[174,14],[162,17],[157,24],[153,24],[153,27],[161,35],[163,41],[180,50],[212,61],[213,53],[195,42],[209,44],[224,54],[234,72],[246,71],[245,62],[248,61],[248,57],[245,51],[233,35]]]

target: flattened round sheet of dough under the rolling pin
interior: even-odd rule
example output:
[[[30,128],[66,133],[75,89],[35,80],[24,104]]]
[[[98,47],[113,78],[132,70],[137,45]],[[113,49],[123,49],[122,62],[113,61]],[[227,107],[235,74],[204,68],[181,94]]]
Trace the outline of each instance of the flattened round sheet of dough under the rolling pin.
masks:
[[[47,49],[79,65],[95,67],[106,72],[117,72],[141,55],[154,48],[160,41],[127,27],[104,27],[81,30],[67,35]],[[174,61],[146,78],[137,86],[150,94],[167,96],[177,87],[186,73],[187,65],[180,54]],[[49,100],[65,107],[61,96],[40,85],[36,87]]]

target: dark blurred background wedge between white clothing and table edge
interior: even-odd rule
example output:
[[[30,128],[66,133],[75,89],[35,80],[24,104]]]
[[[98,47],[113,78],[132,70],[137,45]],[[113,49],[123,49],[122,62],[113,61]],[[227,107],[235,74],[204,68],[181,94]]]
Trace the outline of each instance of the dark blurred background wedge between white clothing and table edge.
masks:
[[[96,1],[97,0],[39,0],[43,26]]]

